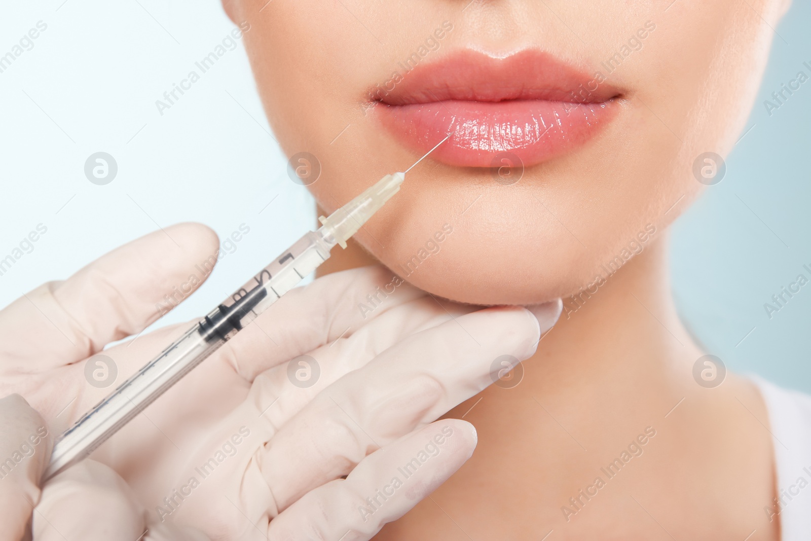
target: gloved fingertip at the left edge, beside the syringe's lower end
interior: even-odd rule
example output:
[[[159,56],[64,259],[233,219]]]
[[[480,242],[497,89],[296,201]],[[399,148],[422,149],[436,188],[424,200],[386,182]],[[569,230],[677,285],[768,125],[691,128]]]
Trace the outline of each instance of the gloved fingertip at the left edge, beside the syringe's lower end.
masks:
[[[0,400],[0,540],[23,536],[52,447],[45,421],[23,397]]]

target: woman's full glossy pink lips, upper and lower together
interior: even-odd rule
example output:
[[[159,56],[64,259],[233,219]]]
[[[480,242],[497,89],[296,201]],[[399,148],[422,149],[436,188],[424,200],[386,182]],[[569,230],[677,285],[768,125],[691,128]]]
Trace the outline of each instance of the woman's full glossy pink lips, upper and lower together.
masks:
[[[590,140],[621,92],[551,55],[505,58],[465,49],[418,64],[369,92],[375,115],[405,146],[449,165],[534,165]],[[506,161],[504,161],[506,159]]]

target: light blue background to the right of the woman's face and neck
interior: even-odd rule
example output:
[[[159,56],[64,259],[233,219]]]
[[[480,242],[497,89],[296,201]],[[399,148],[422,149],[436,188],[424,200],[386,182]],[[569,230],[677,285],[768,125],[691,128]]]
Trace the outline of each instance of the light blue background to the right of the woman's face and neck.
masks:
[[[771,115],[763,102],[798,71],[811,76],[809,23],[811,2],[794,2],[776,28],[751,131],[727,157],[723,180],[676,221],[671,255],[676,303],[708,352],[807,393],[811,283],[771,319],[763,305],[798,274],[811,281],[803,268],[811,268],[811,80]]]

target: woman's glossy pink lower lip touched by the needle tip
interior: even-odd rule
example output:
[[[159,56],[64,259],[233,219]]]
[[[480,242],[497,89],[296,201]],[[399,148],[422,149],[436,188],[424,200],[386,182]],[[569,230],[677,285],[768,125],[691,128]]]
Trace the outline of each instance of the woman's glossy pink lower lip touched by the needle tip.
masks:
[[[384,126],[406,146],[462,167],[529,166],[586,144],[616,112],[614,100],[436,101],[377,107]]]

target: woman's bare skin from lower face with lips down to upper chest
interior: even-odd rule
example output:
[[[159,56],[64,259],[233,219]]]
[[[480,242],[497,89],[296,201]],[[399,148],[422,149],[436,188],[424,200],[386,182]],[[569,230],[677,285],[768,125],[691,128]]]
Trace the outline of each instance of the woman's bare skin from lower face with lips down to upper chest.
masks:
[[[647,239],[545,335],[520,385],[448,412],[476,426],[474,457],[380,539],[672,539],[661,525],[678,539],[778,539],[762,514],[775,497],[769,434],[753,421],[765,405],[733,375],[717,389],[693,380],[704,352],[680,325],[657,240],[703,187],[697,157],[726,156],[740,136],[786,3],[469,1],[224,0],[251,25],[282,148],[320,161],[309,188],[325,211],[451,134],[355,236],[414,285],[539,303],[605,277]],[[524,162],[518,182],[491,170],[502,151]],[[649,424],[660,432],[644,466],[564,518],[580,480]],[[659,523],[631,500],[641,494]]]

